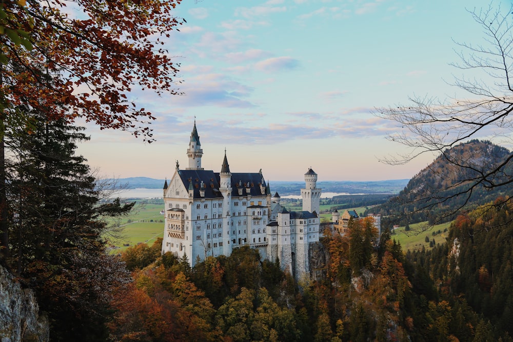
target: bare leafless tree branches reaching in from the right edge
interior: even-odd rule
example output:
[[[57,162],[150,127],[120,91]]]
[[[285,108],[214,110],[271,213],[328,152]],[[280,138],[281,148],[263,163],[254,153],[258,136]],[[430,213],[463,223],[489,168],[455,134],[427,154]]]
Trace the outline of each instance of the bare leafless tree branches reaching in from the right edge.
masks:
[[[469,11],[476,23],[483,28],[484,39],[479,44],[456,43],[461,52],[459,63],[462,72],[471,74],[456,77],[453,85],[466,91],[464,98],[439,100],[432,97],[410,98],[411,104],[377,108],[379,117],[397,123],[398,132],[388,135],[389,140],[403,144],[409,152],[383,161],[398,165],[408,163],[421,154],[441,155],[449,165],[448,170],[428,170],[440,173],[451,182],[428,191],[410,194],[404,198],[416,203],[417,210],[434,208],[456,197],[465,201],[450,215],[460,211],[478,188],[499,189],[513,183],[513,154],[498,158],[494,151],[479,151],[481,158],[451,153],[450,148],[469,139],[494,136],[508,138],[513,123],[513,23],[510,13],[492,8]],[[477,151],[473,151],[474,153]],[[471,154],[470,154],[471,155]],[[509,198],[505,198],[505,201]],[[500,205],[500,204],[499,204]],[[449,215],[449,214],[446,214]],[[442,216],[446,216],[442,215]],[[441,220],[443,217],[437,217]]]

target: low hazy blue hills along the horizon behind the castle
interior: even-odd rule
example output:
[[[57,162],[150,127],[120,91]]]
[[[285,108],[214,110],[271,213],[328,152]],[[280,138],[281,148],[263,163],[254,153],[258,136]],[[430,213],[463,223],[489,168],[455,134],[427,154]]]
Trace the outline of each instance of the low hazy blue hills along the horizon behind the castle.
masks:
[[[120,178],[119,184],[126,184],[128,189],[162,189],[165,179],[154,179],[148,177],[130,177]],[[270,181],[271,191],[278,192],[280,195],[299,195],[301,188],[304,188],[305,182],[284,182]],[[350,194],[397,194],[408,183],[408,179],[376,180],[368,182],[350,182],[350,181],[322,181],[317,182],[317,186],[323,192],[347,192]]]

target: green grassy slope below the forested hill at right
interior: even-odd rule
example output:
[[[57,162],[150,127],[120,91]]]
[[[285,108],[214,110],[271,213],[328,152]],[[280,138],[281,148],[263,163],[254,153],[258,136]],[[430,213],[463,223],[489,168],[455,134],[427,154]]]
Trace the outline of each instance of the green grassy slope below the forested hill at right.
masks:
[[[446,238],[449,234],[449,226],[450,222],[447,222],[426,230],[427,222],[421,222],[410,225],[409,231],[405,231],[405,227],[396,228],[394,230],[394,234],[392,234],[390,237],[392,239],[396,239],[396,241],[401,244],[404,252],[408,250],[420,250],[422,247],[428,250],[431,248],[429,247],[429,243],[425,241],[426,236],[430,241],[435,239],[436,245],[443,244],[446,242]],[[445,229],[447,229],[446,232],[444,232]],[[436,233],[439,230],[441,232],[440,234],[433,235],[433,232]]]

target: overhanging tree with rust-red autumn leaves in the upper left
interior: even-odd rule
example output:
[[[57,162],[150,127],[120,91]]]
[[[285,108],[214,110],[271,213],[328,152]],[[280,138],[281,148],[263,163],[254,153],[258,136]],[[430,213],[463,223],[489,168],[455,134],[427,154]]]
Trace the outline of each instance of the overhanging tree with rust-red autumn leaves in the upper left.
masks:
[[[134,89],[178,94],[177,66],[163,37],[182,21],[181,0],[19,0],[0,9],[0,260],[9,256],[6,131],[77,117],[151,142],[154,117],[128,98]],[[75,10],[75,6],[78,9]],[[73,7],[73,10],[70,10]],[[78,13],[74,16],[70,13]],[[7,164],[6,164],[7,163]]]

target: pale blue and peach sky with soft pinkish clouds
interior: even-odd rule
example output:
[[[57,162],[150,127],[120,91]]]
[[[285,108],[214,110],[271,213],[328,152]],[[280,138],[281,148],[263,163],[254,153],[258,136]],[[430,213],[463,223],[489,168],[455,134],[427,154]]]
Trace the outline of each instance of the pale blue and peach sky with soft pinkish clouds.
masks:
[[[511,1],[496,1],[503,7]],[[79,146],[98,174],[170,178],[196,121],[202,167],[273,180],[411,178],[435,158],[404,166],[380,159],[404,152],[385,134],[398,128],[372,114],[411,96],[460,96],[454,41],[476,42],[474,0],[184,0],[187,23],[167,48],[180,64],[183,95],[130,94],[151,111],[155,142],[88,125]],[[487,6],[487,5],[485,5]],[[455,51],[456,49],[456,51]],[[181,81],[181,83],[178,83]]]

